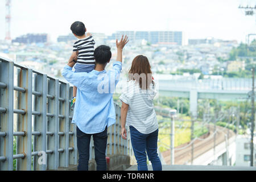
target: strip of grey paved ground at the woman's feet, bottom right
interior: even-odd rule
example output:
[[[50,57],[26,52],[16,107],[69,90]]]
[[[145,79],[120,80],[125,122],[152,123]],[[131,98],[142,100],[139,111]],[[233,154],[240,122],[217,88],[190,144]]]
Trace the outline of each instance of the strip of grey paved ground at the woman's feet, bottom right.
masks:
[[[190,166],[190,165],[163,165],[163,171],[256,171],[256,167],[243,166]],[[152,166],[148,166],[152,171]],[[137,171],[137,165],[131,166],[126,171]]]

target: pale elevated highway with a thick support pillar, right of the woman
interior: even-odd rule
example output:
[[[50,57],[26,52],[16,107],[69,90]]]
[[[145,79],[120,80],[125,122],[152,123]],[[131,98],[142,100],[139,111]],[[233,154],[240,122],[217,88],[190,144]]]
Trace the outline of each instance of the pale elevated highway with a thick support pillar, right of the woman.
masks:
[[[197,115],[199,99],[246,100],[251,90],[249,78],[219,78],[217,80],[160,80],[159,95],[189,98],[190,111]]]

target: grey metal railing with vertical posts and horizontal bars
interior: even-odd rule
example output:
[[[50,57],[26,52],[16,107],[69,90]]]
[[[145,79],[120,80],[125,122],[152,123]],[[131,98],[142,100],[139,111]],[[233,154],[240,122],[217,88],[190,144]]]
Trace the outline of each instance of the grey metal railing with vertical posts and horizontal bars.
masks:
[[[54,170],[77,164],[72,91],[68,82],[0,57],[0,170]],[[130,134],[127,140],[120,135],[117,104],[115,111],[117,122],[108,128],[106,155],[131,155]],[[43,152],[46,163],[39,163]]]

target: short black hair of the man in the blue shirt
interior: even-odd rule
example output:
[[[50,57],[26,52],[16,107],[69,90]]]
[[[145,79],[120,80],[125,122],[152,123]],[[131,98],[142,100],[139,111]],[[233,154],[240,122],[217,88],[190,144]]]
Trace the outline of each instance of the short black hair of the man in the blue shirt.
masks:
[[[101,45],[94,50],[94,59],[96,64],[107,63],[112,56],[109,46]]]

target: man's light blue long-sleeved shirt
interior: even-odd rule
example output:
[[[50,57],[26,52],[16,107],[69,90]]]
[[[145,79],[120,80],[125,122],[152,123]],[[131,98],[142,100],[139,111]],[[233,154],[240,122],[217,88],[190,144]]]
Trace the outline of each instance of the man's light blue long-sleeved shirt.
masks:
[[[115,61],[108,72],[93,69],[75,73],[68,65],[64,67],[63,77],[77,87],[72,123],[82,132],[100,133],[115,123],[113,93],[121,70],[120,61]]]

